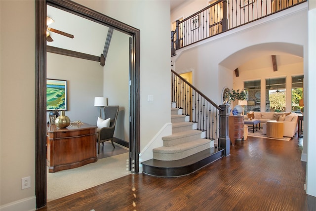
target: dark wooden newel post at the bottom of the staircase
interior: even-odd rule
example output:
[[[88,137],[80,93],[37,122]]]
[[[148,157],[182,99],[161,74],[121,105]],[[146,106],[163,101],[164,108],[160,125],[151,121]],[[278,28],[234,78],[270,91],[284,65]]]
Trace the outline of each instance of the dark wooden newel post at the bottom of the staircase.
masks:
[[[219,106],[222,110],[219,111],[219,118],[220,118],[220,133],[219,133],[219,146],[225,148],[224,155],[229,156],[230,147],[231,147],[231,140],[228,136],[228,117],[231,112],[230,105],[220,105]]]

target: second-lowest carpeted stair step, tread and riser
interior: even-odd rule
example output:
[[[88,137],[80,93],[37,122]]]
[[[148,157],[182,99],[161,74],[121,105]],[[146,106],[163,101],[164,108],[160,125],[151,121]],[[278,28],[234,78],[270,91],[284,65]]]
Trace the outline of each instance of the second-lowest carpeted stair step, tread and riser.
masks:
[[[177,144],[182,144],[201,138],[201,131],[199,130],[187,130],[183,132],[177,132],[172,135],[162,137],[163,146],[170,147]]]

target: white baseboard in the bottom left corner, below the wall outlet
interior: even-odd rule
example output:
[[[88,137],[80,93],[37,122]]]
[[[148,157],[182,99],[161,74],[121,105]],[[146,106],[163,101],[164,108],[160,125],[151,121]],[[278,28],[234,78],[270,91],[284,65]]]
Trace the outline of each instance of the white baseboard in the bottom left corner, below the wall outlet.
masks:
[[[29,197],[11,202],[0,207],[0,211],[35,211],[36,197]]]

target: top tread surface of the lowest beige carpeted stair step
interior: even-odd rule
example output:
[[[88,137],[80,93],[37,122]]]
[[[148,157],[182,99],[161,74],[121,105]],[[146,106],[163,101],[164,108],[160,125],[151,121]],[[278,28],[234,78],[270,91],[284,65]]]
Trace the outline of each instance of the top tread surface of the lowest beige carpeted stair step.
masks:
[[[177,144],[177,145],[170,146],[170,147],[162,146],[162,147],[154,148],[153,152],[165,153],[165,154],[179,153],[179,152],[184,152],[184,151],[187,151],[189,149],[192,149],[192,148],[195,148],[197,146],[201,146],[203,144],[210,143],[210,142],[211,142],[211,140],[209,140],[209,139],[199,138],[199,139],[196,139],[196,140],[193,140],[190,142]]]

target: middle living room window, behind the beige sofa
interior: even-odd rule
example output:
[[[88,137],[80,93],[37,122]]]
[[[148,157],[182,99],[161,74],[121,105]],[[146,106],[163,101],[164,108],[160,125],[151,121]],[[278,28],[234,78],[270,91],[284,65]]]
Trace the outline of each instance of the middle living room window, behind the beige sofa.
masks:
[[[266,79],[266,111],[284,112],[286,105],[285,77]]]

